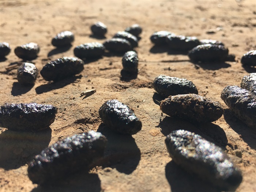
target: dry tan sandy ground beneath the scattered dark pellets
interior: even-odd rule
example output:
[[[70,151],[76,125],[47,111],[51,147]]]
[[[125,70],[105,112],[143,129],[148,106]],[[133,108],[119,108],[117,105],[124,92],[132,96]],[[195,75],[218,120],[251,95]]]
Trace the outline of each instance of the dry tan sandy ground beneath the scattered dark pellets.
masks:
[[[237,191],[256,191],[256,130],[238,120],[220,98],[225,86],[239,86],[244,75],[256,72],[240,63],[244,53],[256,49],[255,11],[255,0],[1,0],[0,42],[8,42],[12,51],[0,62],[0,104],[47,103],[57,106],[58,113],[50,128],[42,132],[0,128],[0,191],[218,191],[173,163],[164,140],[176,129],[196,132],[222,147],[242,171],[243,181]],[[90,26],[97,21],[108,26],[107,39],[133,23],[142,26],[139,46],[135,48],[140,59],[138,78],[121,80],[122,56],[110,53],[97,61],[86,61],[84,70],[75,77],[53,83],[39,76],[33,87],[18,83],[16,69],[5,69],[21,61],[14,48],[25,43],[36,42],[41,47],[33,60],[41,70],[51,60],[74,56],[73,50],[79,44],[104,42],[106,39],[90,36]],[[74,32],[75,42],[69,49],[55,49],[51,39],[64,30]],[[237,61],[195,65],[187,55],[154,47],[149,38],[160,30],[220,40]],[[215,33],[207,33],[209,30]],[[224,115],[205,124],[161,116],[157,104],[161,98],[152,88],[154,78],[160,74],[191,80],[199,95],[221,102]],[[80,97],[82,91],[92,88],[97,89],[95,94]],[[109,99],[118,99],[132,108],[142,121],[142,130],[130,137],[108,131],[98,109]],[[102,166],[48,187],[32,184],[27,162],[34,155],[58,139],[89,130],[98,130],[109,140]]]

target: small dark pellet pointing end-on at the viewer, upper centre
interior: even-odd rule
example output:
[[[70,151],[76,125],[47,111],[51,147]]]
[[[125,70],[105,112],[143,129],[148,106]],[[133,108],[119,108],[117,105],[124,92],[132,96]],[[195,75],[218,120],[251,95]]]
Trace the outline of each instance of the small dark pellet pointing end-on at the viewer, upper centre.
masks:
[[[122,59],[123,70],[127,72],[138,72],[139,58],[135,51],[128,51]]]

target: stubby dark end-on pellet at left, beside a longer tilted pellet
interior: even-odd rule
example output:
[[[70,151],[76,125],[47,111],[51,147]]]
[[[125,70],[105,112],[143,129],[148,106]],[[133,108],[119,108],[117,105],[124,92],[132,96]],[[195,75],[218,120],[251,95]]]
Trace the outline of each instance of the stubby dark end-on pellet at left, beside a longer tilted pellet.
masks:
[[[18,68],[17,79],[20,84],[31,85],[35,83],[38,76],[38,69],[33,63],[23,63]]]

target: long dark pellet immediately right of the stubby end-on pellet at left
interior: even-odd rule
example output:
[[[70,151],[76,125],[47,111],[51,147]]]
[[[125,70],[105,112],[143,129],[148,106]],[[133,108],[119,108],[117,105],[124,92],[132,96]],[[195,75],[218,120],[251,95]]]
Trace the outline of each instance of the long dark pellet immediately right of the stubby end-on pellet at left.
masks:
[[[40,74],[46,81],[56,81],[79,74],[84,62],[76,57],[62,57],[46,64]]]

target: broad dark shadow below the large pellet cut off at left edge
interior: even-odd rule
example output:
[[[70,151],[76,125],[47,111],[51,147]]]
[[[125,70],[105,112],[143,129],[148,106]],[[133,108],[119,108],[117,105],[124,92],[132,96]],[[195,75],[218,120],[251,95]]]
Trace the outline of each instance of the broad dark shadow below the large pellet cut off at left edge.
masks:
[[[0,167],[18,169],[48,147],[52,137],[49,127],[38,132],[6,130],[0,134]]]

